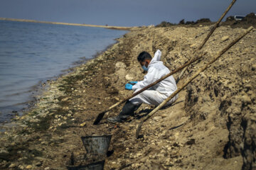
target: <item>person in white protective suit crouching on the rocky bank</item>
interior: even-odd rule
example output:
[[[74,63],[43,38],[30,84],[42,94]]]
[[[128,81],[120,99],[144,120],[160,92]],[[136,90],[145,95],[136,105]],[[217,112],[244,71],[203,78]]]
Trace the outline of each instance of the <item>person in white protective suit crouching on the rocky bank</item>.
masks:
[[[160,59],[160,50],[156,51],[153,58],[151,55],[149,55],[148,52],[141,52],[137,57],[137,60],[139,61],[139,64],[141,64],[142,69],[144,69],[147,74],[144,76],[144,80],[142,81],[130,81],[128,84],[125,84],[125,89],[134,90],[137,92],[145,86],[154,83],[154,81],[160,79],[164,75],[169,74],[170,70],[164,66]],[[158,84],[155,84],[151,88],[146,89],[137,96],[129,99],[129,101],[125,103],[119,115],[108,118],[107,120],[111,123],[122,123],[130,115],[133,115],[134,111],[136,111],[142,103],[158,106],[166,98],[171,96],[171,94],[173,94],[176,89],[177,86],[174,77],[167,77],[166,79],[160,81]],[[168,103],[166,103],[166,106],[174,103],[177,98],[178,94],[174,96],[174,98],[172,98]]]

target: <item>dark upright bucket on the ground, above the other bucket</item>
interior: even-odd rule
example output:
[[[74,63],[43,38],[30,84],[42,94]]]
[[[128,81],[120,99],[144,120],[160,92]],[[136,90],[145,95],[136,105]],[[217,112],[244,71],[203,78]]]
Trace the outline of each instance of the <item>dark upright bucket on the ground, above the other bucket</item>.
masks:
[[[81,137],[81,139],[87,154],[94,154],[105,158],[107,155],[107,150],[110,147],[111,137],[112,135],[87,136]]]

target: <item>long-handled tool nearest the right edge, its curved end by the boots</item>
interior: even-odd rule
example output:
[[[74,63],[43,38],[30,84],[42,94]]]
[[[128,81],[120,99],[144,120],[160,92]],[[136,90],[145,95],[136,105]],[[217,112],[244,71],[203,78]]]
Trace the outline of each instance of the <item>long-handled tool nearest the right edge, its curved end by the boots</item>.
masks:
[[[176,94],[178,94],[184,87],[186,87],[191,81],[193,81],[193,79],[195,79],[196,77],[198,77],[198,75],[203,72],[205,69],[208,68],[208,66],[210,64],[213,64],[213,62],[215,62],[216,60],[218,60],[218,58],[224,54],[224,52],[226,52],[228,49],[230,49],[230,47],[232,47],[233,45],[235,45],[236,42],[238,42],[241,38],[243,38],[245,35],[247,35],[247,33],[250,33],[250,31],[253,29],[253,27],[251,26],[250,28],[248,28],[245,33],[242,33],[242,35],[240,35],[240,37],[236,38],[235,40],[233,40],[233,42],[231,42],[227,47],[225,47],[223,50],[221,50],[218,55],[216,55],[213,60],[211,60],[210,62],[208,62],[208,64],[205,64],[201,69],[198,69],[198,72],[196,72],[196,74],[193,74],[193,76],[191,77],[191,79],[188,79],[188,81],[186,81],[184,84],[182,84],[181,87],[179,87],[176,91],[174,91],[173,94],[171,94],[171,96],[169,96],[168,98],[166,98],[165,101],[163,101],[163,103],[161,103],[159,106],[157,106],[156,108],[154,108],[153,111],[151,111],[151,113],[149,113],[148,115],[146,115],[146,117],[144,117],[142,119],[142,121],[137,125],[137,131],[136,131],[136,137],[139,138],[139,132],[142,129],[142,125],[143,123],[148,120],[152,115],[154,115],[154,113],[156,113],[157,111],[159,111],[160,108],[162,108],[168,101],[171,100],[171,98],[174,98],[174,96],[176,96]]]

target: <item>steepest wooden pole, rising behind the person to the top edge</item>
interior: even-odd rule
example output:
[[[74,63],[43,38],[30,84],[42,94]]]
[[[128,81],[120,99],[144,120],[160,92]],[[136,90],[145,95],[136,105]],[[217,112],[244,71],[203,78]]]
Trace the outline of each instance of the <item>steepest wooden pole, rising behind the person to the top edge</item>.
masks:
[[[225,12],[223,13],[222,16],[220,16],[219,20],[217,21],[217,23],[215,23],[215,25],[213,26],[213,28],[210,30],[210,32],[208,33],[208,35],[206,36],[206,38],[203,40],[203,42],[201,43],[201,45],[196,49],[195,52],[198,52],[199,50],[202,49],[203,45],[206,44],[207,40],[210,38],[210,35],[213,34],[214,30],[219,26],[220,21],[222,21],[222,19],[224,18],[224,16],[228,13],[228,11],[230,10],[230,8],[233,6],[233,4],[235,4],[236,0],[233,0],[231,2],[231,4],[228,6],[228,8],[225,10]],[[193,52],[193,54],[195,53]],[[193,58],[192,58],[193,59]],[[176,80],[176,84],[178,84],[178,81],[181,79],[181,77],[183,76],[184,72],[186,72],[186,69],[188,69],[188,66],[185,67],[182,71],[181,74],[179,74],[177,80]]]

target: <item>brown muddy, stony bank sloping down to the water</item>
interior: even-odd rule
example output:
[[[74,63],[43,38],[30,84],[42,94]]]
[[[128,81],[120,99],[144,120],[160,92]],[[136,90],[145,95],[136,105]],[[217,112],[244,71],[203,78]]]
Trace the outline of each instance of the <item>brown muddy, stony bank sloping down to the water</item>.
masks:
[[[122,109],[118,106],[92,125],[98,113],[132,94],[124,89],[127,81],[143,79],[139,52],[161,50],[161,60],[174,70],[193,56],[210,27],[131,30],[95,60],[49,81],[31,111],[1,134],[0,168],[89,164],[96,160],[87,157],[80,137],[112,135],[105,169],[255,169],[255,30],[183,89],[173,106],[147,120],[139,139],[137,123],[154,106],[143,104],[126,123],[107,123]],[[202,49],[207,55],[188,68],[178,86],[244,31],[217,28]]]

